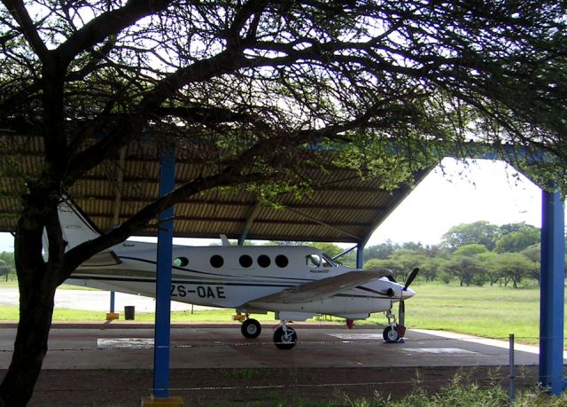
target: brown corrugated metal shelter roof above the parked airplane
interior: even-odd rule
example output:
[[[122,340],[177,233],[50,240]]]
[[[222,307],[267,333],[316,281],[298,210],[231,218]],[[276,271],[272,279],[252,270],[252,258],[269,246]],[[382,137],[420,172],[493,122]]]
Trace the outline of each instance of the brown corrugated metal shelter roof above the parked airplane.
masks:
[[[13,137],[13,136],[12,136]],[[23,137],[21,137],[23,139]],[[42,164],[40,137],[14,143],[17,167],[31,172]],[[200,174],[196,160],[180,153],[176,182],[181,184]],[[128,146],[120,187],[119,158],[105,161],[84,176],[68,192],[102,231],[114,226],[116,192],[120,188],[119,223],[158,197],[159,161],[148,143]],[[429,171],[415,175],[421,181]],[[283,193],[276,206],[258,203],[254,192],[213,190],[175,206],[175,236],[187,238],[269,239],[361,243],[408,194],[408,187],[384,191],[380,180],[363,180],[355,171],[330,169],[304,173],[313,189],[301,196]],[[0,231],[13,231],[19,213],[19,178],[0,174]],[[153,236],[155,230],[141,235]]]

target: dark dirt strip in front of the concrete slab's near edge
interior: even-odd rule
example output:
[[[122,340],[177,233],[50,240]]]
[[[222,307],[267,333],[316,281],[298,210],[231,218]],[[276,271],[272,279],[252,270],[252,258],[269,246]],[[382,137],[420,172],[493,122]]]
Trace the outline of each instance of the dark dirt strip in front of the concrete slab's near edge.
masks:
[[[5,371],[0,371],[4,376]],[[460,374],[480,386],[509,386],[507,367],[341,368],[341,369],[175,369],[170,395],[185,405],[298,405],[372,397],[400,398],[416,387],[439,390]],[[151,395],[151,370],[45,370],[29,406],[139,406]],[[538,368],[518,368],[517,388],[534,387]]]

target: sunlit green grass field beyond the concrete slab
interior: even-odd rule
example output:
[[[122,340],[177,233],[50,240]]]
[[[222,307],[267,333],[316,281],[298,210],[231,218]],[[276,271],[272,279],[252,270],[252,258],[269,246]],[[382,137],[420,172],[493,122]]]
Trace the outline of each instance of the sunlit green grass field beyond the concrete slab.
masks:
[[[0,287],[6,287],[0,284]],[[501,286],[423,284],[412,288],[416,296],[406,302],[408,328],[436,329],[469,333],[486,338],[508,340],[509,333],[524,343],[539,343],[540,287],[514,289]],[[397,309],[395,309],[397,310]],[[234,309],[177,311],[172,322],[226,322]],[[260,321],[273,322],[273,314],[255,315]],[[56,309],[54,321],[102,321],[104,312]],[[330,320],[330,318],[317,318]],[[0,307],[0,321],[17,321],[16,307]],[[152,322],[153,313],[136,312],[136,321]],[[340,321],[334,318],[335,321]],[[356,325],[384,325],[382,313],[374,314]],[[567,330],[566,330],[567,332]]]

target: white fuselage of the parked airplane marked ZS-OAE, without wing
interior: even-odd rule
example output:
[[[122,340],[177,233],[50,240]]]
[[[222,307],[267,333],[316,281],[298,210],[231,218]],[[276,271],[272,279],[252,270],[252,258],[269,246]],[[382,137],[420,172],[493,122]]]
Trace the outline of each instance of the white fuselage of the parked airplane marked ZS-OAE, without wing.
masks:
[[[125,241],[111,247],[115,261],[94,258],[74,271],[67,283],[129,294],[155,296],[156,245]],[[109,259],[110,260],[110,259]],[[414,293],[387,278],[318,299],[276,303],[255,302],[311,281],[355,269],[330,260],[313,247],[182,247],[174,246],[171,299],[198,305],[248,311],[327,314],[364,318],[392,308],[392,301]],[[363,273],[364,271],[359,271]],[[295,319],[298,319],[296,317]]]

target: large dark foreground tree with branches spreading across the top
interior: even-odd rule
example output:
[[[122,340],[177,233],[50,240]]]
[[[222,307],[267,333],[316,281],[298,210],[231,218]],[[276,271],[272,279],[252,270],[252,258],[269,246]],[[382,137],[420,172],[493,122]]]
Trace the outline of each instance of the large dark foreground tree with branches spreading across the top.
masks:
[[[563,1],[3,4],[0,171],[19,194],[20,290],[5,405],[32,395],[57,286],[193,194],[270,200],[335,166],[393,189],[447,150],[466,156],[471,135],[542,182],[567,162]],[[32,174],[18,154],[27,137],[43,140]],[[201,171],[66,252],[61,195],[145,142],[174,144]],[[549,159],[533,166],[526,149]]]

